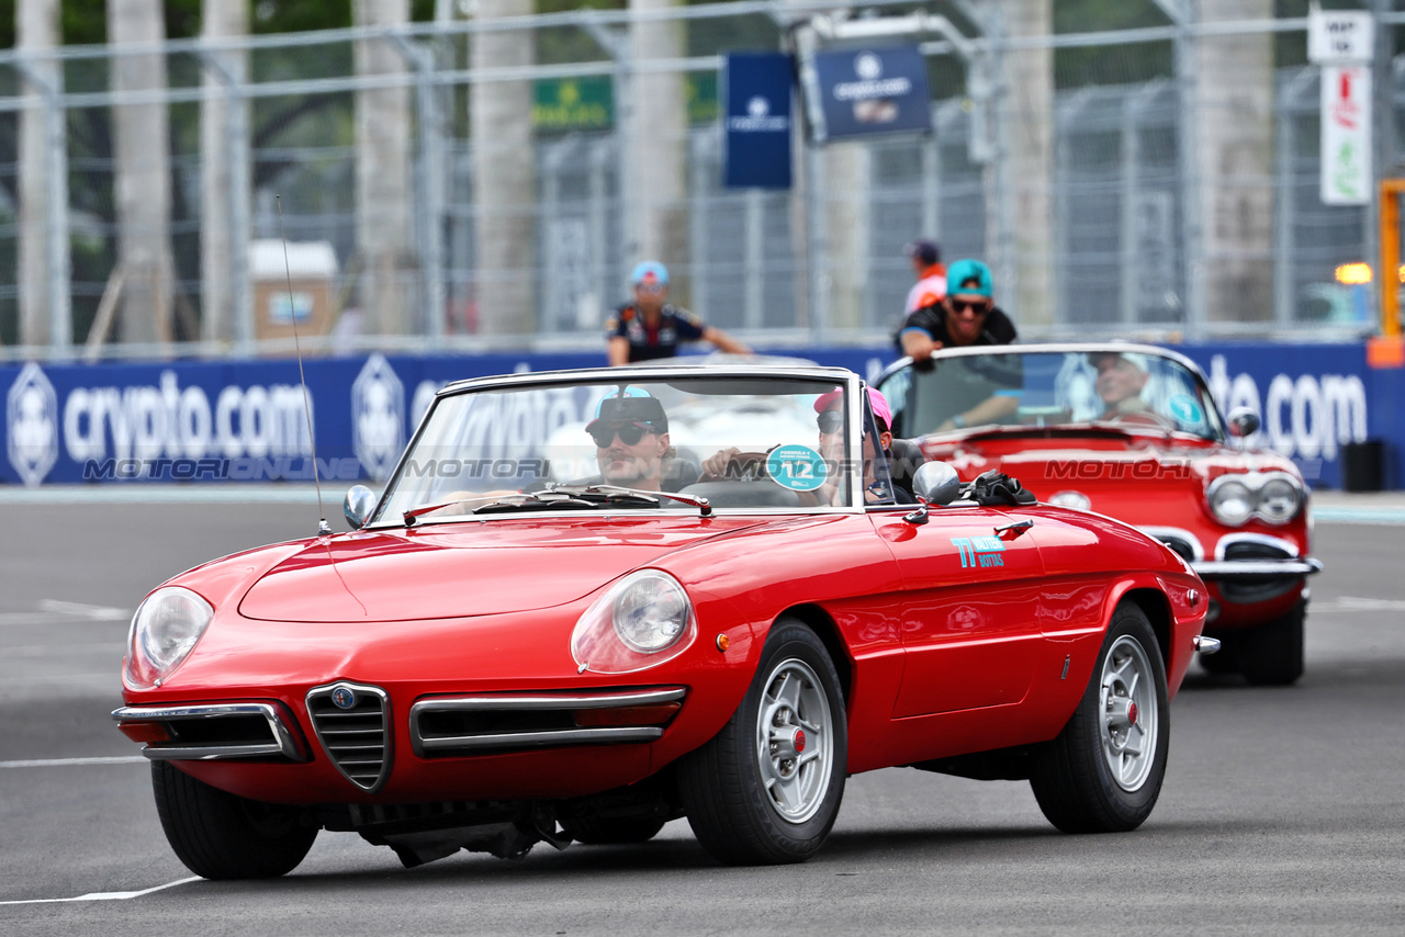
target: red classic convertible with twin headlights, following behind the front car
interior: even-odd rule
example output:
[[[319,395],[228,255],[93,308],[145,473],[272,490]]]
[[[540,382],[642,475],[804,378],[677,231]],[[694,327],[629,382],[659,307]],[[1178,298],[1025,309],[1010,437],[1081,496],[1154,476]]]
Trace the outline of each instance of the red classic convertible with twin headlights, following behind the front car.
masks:
[[[1014,475],[1041,502],[1093,510],[1161,539],[1210,590],[1201,663],[1255,684],[1302,674],[1308,487],[1291,459],[1248,450],[1189,358],[1127,343],[947,348],[880,381],[894,433],[964,479]]]

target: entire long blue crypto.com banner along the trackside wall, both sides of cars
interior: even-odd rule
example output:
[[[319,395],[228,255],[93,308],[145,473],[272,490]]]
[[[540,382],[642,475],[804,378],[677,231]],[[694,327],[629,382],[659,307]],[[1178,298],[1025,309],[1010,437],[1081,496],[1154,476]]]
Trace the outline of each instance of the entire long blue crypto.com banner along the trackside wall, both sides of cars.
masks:
[[[1363,344],[1175,346],[1208,375],[1224,412],[1249,407],[1250,445],[1291,458],[1315,487],[1339,487],[1342,452],[1380,440],[1385,486],[1405,486],[1405,369],[1371,369]],[[870,379],[888,347],[774,350]],[[325,479],[384,479],[451,381],[600,367],[601,353],[306,361]],[[0,483],[312,480],[308,412],[295,361],[4,365]]]

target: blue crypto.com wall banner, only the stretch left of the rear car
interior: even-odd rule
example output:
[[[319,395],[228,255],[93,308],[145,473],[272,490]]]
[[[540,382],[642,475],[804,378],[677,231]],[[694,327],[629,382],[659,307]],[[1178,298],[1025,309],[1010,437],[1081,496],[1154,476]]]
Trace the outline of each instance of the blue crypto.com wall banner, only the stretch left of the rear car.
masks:
[[[813,353],[805,353],[815,358]],[[603,354],[3,365],[0,483],[384,480],[451,381],[604,364]],[[823,364],[874,371],[870,351]]]

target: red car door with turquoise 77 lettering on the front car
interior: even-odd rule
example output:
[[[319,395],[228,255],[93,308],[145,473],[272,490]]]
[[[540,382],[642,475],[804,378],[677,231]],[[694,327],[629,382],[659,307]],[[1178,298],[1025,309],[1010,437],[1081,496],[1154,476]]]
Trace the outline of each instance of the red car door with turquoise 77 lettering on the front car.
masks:
[[[1044,565],[1019,510],[871,511],[903,582],[903,674],[894,716],[1019,702],[1044,646]]]

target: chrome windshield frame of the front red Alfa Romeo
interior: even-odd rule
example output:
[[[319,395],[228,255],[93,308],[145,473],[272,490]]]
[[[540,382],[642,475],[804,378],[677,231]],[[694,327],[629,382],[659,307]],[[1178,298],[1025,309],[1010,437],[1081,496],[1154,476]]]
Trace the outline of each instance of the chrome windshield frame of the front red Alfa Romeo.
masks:
[[[434,419],[434,412],[441,406],[444,400],[459,398],[464,395],[478,393],[478,392],[502,392],[502,391],[532,391],[532,389],[548,389],[562,385],[580,385],[580,384],[620,384],[622,379],[628,382],[662,382],[667,384],[670,381],[687,381],[687,379],[717,379],[725,381],[728,378],[735,378],[740,381],[757,381],[757,379],[815,379],[816,382],[829,382],[830,386],[844,388],[844,400],[847,409],[847,435],[844,438],[844,458],[847,461],[847,475],[849,475],[849,503],[847,504],[830,504],[830,506],[816,506],[816,507],[724,507],[714,506],[714,516],[742,516],[742,514],[771,514],[771,516],[794,516],[794,514],[857,514],[863,513],[863,437],[858,427],[863,426],[863,381],[857,374],[849,371],[847,368],[813,365],[813,367],[776,367],[776,365],[704,365],[704,364],[690,364],[681,360],[673,360],[672,364],[643,364],[643,365],[624,365],[624,367],[603,367],[603,368],[582,368],[572,371],[528,371],[523,374],[507,374],[507,375],[493,375],[486,378],[469,378],[465,381],[455,381],[452,384],[441,388],[436,395],[434,400],[430,403],[429,409],[420,417],[419,424],[414,427],[414,433],[406,443],[405,450],[395,462],[395,469],[386,478],[381,494],[375,502],[375,509],[371,511],[370,520],[361,530],[398,530],[405,528],[406,524],[398,517],[384,517],[386,507],[391,500],[391,493],[400,483],[400,479],[406,471],[406,464],[410,454],[414,452],[420,440],[423,438],[430,420]],[[445,516],[445,517],[422,517],[416,520],[414,527],[423,527],[426,524],[440,524],[440,523],[459,523],[459,521],[497,521],[510,518],[601,518],[608,514],[613,518],[624,517],[680,517],[679,507],[683,507],[684,514],[690,510],[686,506],[665,507],[660,504],[658,509],[628,509],[621,510],[618,507],[611,509],[610,506],[601,507],[600,511],[531,511],[527,514],[517,513],[493,513],[493,514],[466,514],[466,516]]]

